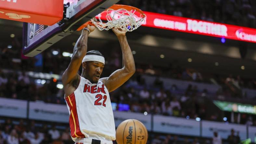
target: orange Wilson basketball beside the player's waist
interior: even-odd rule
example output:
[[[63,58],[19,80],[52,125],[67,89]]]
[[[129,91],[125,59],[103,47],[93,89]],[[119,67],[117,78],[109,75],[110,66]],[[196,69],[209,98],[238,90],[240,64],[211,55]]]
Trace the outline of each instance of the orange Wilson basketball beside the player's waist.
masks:
[[[116,129],[118,144],[146,144],[147,128],[138,120],[127,119]]]

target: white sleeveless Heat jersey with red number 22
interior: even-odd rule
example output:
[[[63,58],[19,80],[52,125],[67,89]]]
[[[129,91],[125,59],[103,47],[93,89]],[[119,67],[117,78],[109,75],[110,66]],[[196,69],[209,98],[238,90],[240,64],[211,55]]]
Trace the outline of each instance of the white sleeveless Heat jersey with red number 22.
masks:
[[[70,133],[74,141],[76,138],[89,138],[90,134],[116,139],[109,91],[101,81],[92,84],[80,77],[78,88],[65,100],[70,113]]]

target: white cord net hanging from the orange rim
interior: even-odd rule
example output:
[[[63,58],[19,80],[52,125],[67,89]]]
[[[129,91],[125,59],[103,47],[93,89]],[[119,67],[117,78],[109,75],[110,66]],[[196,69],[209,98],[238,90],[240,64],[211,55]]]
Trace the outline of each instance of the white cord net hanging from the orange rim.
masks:
[[[99,30],[109,30],[112,28],[117,28],[120,32],[124,33],[127,31],[136,30],[139,26],[145,23],[145,14],[140,14],[137,16],[135,14],[136,10],[128,11],[126,9],[108,9],[101,13],[107,13],[106,19],[107,23],[102,22],[100,16],[98,17],[98,21],[94,21],[91,19],[92,23],[99,29]]]

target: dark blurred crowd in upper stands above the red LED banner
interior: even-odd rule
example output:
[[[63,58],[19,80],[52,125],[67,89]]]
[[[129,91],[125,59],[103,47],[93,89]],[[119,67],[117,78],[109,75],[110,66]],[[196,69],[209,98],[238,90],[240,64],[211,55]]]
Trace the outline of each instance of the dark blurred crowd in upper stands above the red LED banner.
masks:
[[[254,0],[121,0],[141,10],[255,28]]]

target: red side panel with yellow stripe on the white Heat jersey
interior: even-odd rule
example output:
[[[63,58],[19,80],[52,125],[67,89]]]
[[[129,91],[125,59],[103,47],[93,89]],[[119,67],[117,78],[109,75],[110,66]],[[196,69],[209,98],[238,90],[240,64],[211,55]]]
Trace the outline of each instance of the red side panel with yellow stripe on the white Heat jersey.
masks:
[[[70,98],[70,100],[69,100],[69,98]],[[76,134],[78,137],[85,138],[85,136],[81,132],[80,126],[79,126],[79,120],[78,120],[78,114],[77,114],[77,110],[76,110],[76,100],[75,100],[74,92],[72,94],[70,94],[68,97],[66,97],[65,100],[67,101],[67,103],[69,105],[70,113],[72,111],[73,116],[74,116],[74,117],[72,117],[72,115],[70,114],[70,117],[69,117],[71,137],[76,138],[76,136],[75,136],[75,134]],[[70,103],[70,101],[71,101],[71,103]],[[75,123],[74,123],[73,118],[75,119]],[[75,128],[75,126],[76,126],[76,128]],[[75,129],[76,129],[76,131],[75,131]]]

